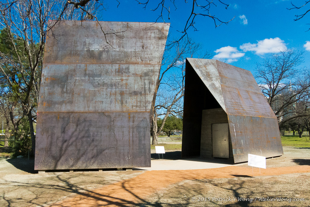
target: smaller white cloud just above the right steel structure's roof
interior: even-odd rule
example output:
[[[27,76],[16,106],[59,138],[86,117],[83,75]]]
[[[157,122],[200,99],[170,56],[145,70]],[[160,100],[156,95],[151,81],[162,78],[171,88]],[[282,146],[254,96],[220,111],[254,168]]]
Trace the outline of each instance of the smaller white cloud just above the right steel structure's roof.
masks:
[[[226,59],[228,63],[235,62],[238,60],[238,58],[244,56],[245,53],[242,53],[237,50],[237,47],[221,47],[214,52],[218,53],[216,54],[213,59]]]

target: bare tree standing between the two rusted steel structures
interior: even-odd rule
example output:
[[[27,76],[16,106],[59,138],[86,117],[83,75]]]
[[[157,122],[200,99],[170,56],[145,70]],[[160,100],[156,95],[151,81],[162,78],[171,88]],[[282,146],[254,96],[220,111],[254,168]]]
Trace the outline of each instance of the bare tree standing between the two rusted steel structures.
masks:
[[[151,124],[152,145],[157,145],[159,133],[165,125],[169,115],[178,115],[183,111],[184,78],[185,78],[185,58],[201,57],[210,58],[212,54],[201,53],[201,45],[193,41],[181,40],[174,43],[166,50],[162,60],[162,70],[156,87],[156,104],[153,110]],[[157,118],[163,116],[162,124],[157,127]]]

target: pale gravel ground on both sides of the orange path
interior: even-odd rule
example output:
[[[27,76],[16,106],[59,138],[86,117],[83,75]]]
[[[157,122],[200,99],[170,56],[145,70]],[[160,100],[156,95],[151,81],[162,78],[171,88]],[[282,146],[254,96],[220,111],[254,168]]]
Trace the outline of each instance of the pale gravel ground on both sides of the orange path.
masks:
[[[284,156],[268,159],[267,168],[310,165],[310,149],[283,147]],[[157,154],[155,154],[157,155]],[[152,154],[152,157],[155,156]],[[165,159],[178,159],[180,151],[167,152]],[[155,158],[154,158],[155,159]],[[89,195],[95,189],[122,180],[130,180],[143,171],[104,172],[53,172],[37,174],[33,160],[0,159],[0,206],[49,206],[59,200],[78,195]],[[248,168],[247,164],[241,167]],[[166,175],[169,177],[169,175]],[[173,176],[171,174],[171,176]],[[138,206],[310,206],[310,173],[294,173],[275,176],[249,176],[236,178],[195,179],[175,182],[158,188],[150,196],[138,202]],[[156,181],[156,177],[152,177]],[[155,182],[156,183],[156,182]],[[158,183],[159,184],[159,183]],[[192,198],[195,201],[192,201]],[[214,201],[198,201],[199,198],[215,198]],[[256,198],[254,202],[249,199]],[[282,198],[282,201],[262,201],[259,198]],[[223,201],[223,199],[248,199],[247,201]],[[281,199],[280,198],[280,199]],[[301,198],[303,201],[290,201]],[[97,198],[96,198],[97,199]],[[98,198],[99,199],[99,198]],[[219,200],[222,199],[222,200]],[[201,199],[200,199],[201,200]]]

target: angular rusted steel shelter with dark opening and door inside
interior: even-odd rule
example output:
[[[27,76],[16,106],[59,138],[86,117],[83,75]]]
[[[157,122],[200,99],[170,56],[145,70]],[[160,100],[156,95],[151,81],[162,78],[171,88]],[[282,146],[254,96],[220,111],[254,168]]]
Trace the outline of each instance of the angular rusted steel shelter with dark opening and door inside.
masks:
[[[229,140],[221,130],[212,134],[220,123],[228,123]],[[277,118],[253,75],[221,61],[187,58],[182,157],[223,157],[238,163],[247,161],[248,154],[283,155]]]

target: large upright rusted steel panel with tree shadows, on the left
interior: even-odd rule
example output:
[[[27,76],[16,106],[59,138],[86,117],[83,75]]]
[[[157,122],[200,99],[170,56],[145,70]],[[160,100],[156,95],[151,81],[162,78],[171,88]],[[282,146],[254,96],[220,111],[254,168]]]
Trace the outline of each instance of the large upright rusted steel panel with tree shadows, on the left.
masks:
[[[55,21],[49,21],[49,25]],[[118,32],[106,35],[104,33]],[[35,169],[149,167],[169,24],[59,21],[47,34]]]

